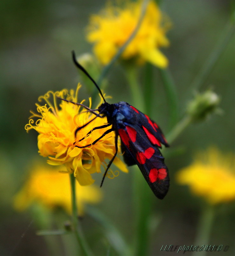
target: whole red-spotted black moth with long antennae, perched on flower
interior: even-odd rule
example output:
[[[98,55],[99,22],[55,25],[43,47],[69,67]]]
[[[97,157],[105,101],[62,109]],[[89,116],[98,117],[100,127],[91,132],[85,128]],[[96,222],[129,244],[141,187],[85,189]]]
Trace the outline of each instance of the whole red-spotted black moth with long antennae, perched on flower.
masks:
[[[107,174],[109,167],[111,166],[114,158],[117,155],[118,136],[120,136],[121,150],[123,152],[124,162],[128,166],[137,164],[156,197],[159,199],[163,199],[169,189],[169,175],[168,169],[164,163],[164,157],[162,156],[159,148],[162,147],[161,144],[163,144],[165,147],[169,147],[169,145],[161,129],[147,115],[143,114],[141,111],[134,108],[127,102],[118,102],[114,104],[107,103],[97,83],[88,74],[88,72],[77,62],[74,51],[72,52],[72,54],[73,62],[75,63],[75,65],[82,72],[84,72],[89,79],[91,79],[91,81],[99,90],[99,93],[104,101],[104,103],[102,103],[98,109],[89,109],[86,106],[82,105],[83,107],[88,109],[88,111],[92,112],[95,117],[83,126],[78,127],[75,131],[75,135],[80,129],[84,128],[87,124],[91,123],[97,117],[106,117],[107,124],[94,127],[90,132],[86,134],[86,136],[88,134],[91,134],[92,131],[96,129],[101,129],[105,127],[110,128],[106,132],[104,132],[99,138],[94,140],[92,144],[83,147],[89,147],[91,145],[94,145],[109,132],[115,132],[115,153],[113,158],[107,165],[107,169],[103,175],[100,187],[104,182],[104,178]],[[81,105],[75,102],[71,103]],[[98,111],[98,113],[95,111]],[[79,141],[83,140],[84,138],[80,139]]]

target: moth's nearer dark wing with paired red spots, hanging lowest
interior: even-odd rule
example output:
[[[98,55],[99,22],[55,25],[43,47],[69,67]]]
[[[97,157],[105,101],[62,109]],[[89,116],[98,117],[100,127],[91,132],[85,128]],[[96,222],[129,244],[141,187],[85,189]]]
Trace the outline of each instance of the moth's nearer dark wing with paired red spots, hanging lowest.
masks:
[[[140,125],[128,122],[125,127],[118,127],[118,134],[122,141],[124,161],[128,165],[135,162],[156,197],[163,199],[169,189],[169,175],[156,141]]]

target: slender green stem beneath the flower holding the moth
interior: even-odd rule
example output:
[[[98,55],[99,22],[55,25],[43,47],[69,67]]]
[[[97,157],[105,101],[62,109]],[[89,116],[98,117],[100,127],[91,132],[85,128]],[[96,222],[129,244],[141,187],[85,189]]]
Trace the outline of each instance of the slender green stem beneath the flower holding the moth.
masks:
[[[76,179],[72,174],[70,174],[70,185],[71,185],[71,200],[72,200],[72,224],[73,231],[76,236],[76,239],[79,243],[79,246],[82,251],[82,255],[90,256],[93,255],[86,243],[86,240],[83,236],[82,229],[79,225],[78,214],[77,214],[77,201],[76,201]]]

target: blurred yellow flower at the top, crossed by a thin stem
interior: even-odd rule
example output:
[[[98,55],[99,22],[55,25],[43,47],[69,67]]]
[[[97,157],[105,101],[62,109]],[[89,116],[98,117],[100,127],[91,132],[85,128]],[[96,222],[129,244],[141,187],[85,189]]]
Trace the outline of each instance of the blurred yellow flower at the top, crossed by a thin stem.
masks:
[[[108,5],[100,15],[93,15],[88,25],[87,40],[94,43],[94,53],[102,64],[107,64],[134,31],[141,14],[142,1],[127,1],[125,7]],[[142,24],[134,39],[128,44],[121,57],[125,60],[137,57],[160,68],[168,65],[167,58],[159,50],[169,45],[165,34],[169,21],[154,1],[150,1]]]

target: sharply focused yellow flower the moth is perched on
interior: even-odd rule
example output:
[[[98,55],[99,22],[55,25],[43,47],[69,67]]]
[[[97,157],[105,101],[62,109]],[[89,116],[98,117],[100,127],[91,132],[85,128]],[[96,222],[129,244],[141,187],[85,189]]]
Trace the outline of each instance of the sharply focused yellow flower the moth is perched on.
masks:
[[[91,174],[101,172],[100,167],[106,168],[106,159],[111,159],[115,153],[114,132],[107,134],[92,146],[78,148],[78,146],[86,146],[91,144],[95,139],[99,138],[107,128],[97,129],[89,136],[79,142],[94,127],[107,123],[106,118],[97,117],[90,124],[79,130],[75,137],[75,130],[86,124],[94,117],[90,112],[84,110],[81,106],[74,105],[70,102],[61,101],[57,104],[57,96],[77,102],[78,85],[76,92],[66,89],[62,91],[47,92],[44,96],[40,96],[38,101],[45,101],[45,105],[36,103],[38,113],[31,111],[32,116],[29,117],[29,123],[25,129],[35,129],[38,135],[39,154],[48,157],[47,161],[51,165],[65,164],[69,173],[74,173],[80,185],[89,185],[94,182]],[[52,102],[49,98],[52,96]],[[90,99],[91,107],[91,99]],[[34,121],[32,118],[36,118]],[[120,144],[120,143],[119,143]],[[126,165],[116,157],[114,164],[122,171],[128,172]]]

